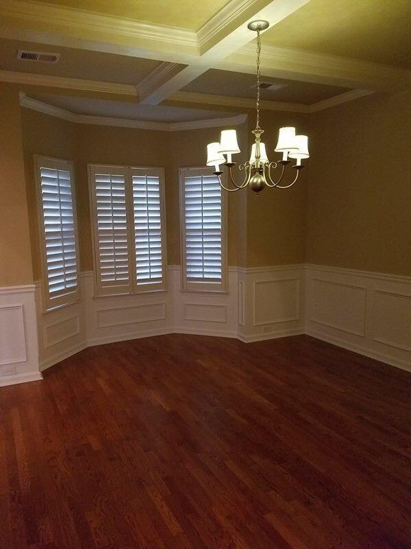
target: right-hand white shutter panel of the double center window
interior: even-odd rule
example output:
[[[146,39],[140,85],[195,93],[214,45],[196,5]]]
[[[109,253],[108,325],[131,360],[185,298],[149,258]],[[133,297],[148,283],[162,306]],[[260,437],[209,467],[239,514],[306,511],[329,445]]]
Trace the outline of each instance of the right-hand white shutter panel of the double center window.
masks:
[[[164,282],[162,170],[132,168],[136,284]]]

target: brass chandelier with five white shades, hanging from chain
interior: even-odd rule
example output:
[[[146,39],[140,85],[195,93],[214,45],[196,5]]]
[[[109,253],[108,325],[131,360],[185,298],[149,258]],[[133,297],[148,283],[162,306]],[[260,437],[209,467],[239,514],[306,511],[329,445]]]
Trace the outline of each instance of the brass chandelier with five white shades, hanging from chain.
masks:
[[[260,128],[260,52],[261,52],[261,37],[260,32],[269,27],[268,21],[252,21],[249,23],[249,30],[257,32],[257,100],[256,100],[256,129],[253,130],[255,142],[251,147],[251,156],[249,161],[238,165],[240,172],[244,172],[242,182],[236,183],[233,178],[232,168],[236,165],[232,161],[232,154],[240,152],[237,143],[236,130],[223,130],[221,132],[220,143],[209,143],[207,145],[207,165],[214,166],[215,174],[219,178],[221,187],[225,191],[238,191],[249,187],[257,194],[267,187],[276,187],[277,189],[288,189],[297,181],[299,172],[303,165],[301,159],[308,159],[308,137],[306,135],[295,135],[295,128],[290,126],[279,129],[277,146],[275,152],[282,152],[282,160],[270,162],[266,155],[265,144],[261,141],[261,135],[264,130]],[[296,163],[292,167],[296,170],[295,178],[291,183],[281,184],[286,171],[286,166],[290,163],[288,159],[295,159]],[[229,180],[233,187],[225,187],[222,181],[223,170],[220,166],[228,168]],[[281,174],[277,180],[273,180],[272,174],[278,165],[282,166]],[[281,184],[281,185],[280,185]]]

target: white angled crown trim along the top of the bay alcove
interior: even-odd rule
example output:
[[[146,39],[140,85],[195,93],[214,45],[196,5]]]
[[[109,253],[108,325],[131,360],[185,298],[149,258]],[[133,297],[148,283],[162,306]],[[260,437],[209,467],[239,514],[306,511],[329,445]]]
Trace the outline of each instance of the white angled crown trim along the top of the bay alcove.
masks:
[[[42,101],[27,97],[20,93],[20,104],[25,108],[37,110],[53,117],[73,122],[74,124],[92,124],[96,126],[118,126],[122,128],[136,128],[140,130],[158,130],[162,132],[179,132],[183,130],[199,130],[202,128],[222,128],[225,126],[238,126],[244,124],[247,115],[234,117],[212,118],[206,120],[192,120],[187,122],[151,122],[145,120],[133,120],[112,117],[99,117],[90,115],[78,115],[64,108],[56,107]]]

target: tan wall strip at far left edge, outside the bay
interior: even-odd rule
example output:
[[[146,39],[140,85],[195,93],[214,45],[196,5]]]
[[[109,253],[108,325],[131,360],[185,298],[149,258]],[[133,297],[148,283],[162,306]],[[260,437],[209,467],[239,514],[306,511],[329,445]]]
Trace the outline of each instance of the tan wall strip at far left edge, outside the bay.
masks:
[[[0,84],[0,285],[33,281],[18,86]]]

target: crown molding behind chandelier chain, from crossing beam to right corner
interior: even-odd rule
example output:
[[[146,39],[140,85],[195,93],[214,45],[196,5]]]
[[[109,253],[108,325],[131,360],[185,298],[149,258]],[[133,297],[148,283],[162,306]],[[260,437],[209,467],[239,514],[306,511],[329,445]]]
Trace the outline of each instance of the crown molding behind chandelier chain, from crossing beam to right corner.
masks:
[[[192,91],[177,91],[169,97],[170,101],[184,103],[196,103],[199,105],[221,105],[240,108],[256,108],[256,100],[249,97],[231,97],[229,95],[214,95],[208,93],[195,93]],[[280,101],[261,101],[260,106],[264,110],[286,110],[291,113],[308,113],[309,106],[299,103],[283,103]]]

